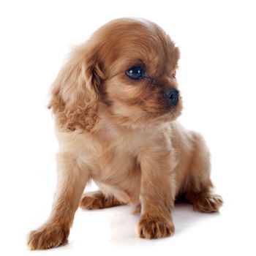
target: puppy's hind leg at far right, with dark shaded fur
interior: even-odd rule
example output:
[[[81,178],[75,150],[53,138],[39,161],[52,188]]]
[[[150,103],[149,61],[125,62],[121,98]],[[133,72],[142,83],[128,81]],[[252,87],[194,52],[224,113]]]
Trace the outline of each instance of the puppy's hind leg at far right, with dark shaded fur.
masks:
[[[210,154],[202,136],[193,133],[193,154],[189,165],[185,198],[195,211],[214,212],[222,206],[222,197],[215,195],[210,178]]]

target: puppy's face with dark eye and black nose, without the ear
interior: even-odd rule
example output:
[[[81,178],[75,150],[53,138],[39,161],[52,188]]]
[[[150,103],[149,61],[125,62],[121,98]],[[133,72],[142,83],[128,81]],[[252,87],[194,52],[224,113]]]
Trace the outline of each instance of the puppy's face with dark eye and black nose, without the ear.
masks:
[[[179,52],[162,29],[146,20],[123,20],[97,37],[105,42],[99,53],[105,73],[101,100],[119,123],[159,124],[181,114]]]

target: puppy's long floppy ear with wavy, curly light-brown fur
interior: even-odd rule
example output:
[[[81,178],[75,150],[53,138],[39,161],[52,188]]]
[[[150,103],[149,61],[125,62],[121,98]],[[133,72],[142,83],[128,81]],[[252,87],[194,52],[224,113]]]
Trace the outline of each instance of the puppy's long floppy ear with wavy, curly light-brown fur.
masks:
[[[97,54],[87,45],[77,48],[50,90],[48,108],[53,110],[59,129],[89,132],[94,127],[98,119],[99,84],[102,79]]]

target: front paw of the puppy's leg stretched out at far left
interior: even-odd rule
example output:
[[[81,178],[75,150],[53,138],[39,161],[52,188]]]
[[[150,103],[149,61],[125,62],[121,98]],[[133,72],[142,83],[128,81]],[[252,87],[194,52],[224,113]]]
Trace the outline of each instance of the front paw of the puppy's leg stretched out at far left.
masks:
[[[29,233],[29,249],[49,249],[67,244],[69,229],[60,224],[47,224]]]

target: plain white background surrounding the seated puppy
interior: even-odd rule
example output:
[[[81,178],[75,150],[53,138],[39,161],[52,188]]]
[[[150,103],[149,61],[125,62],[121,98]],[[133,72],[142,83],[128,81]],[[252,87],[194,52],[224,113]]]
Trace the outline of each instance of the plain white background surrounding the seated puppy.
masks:
[[[127,16],[158,23],[180,48],[180,121],[206,138],[225,205],[177,206],[175,236],[158,241],[136,238],[130,206],[79,209],[69,245],[30,252],[26,234],[47,219],[56,186],[50,83],[72,45]],[[1,1],[0,254],[255,255],[255,16],[246,0]]]

